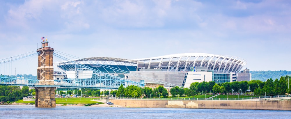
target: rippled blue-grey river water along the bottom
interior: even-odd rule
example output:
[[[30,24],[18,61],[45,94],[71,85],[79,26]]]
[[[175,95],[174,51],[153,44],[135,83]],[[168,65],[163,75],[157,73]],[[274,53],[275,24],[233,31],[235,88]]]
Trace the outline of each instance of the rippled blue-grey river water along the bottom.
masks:
[[[291,111],[244,110],[244,109],[185,109],[185,108],[127,108],[127,107],[88,107],[56,106],[40,108],[34,105],[0,105],[0,118],[21,119],[290,119]]]

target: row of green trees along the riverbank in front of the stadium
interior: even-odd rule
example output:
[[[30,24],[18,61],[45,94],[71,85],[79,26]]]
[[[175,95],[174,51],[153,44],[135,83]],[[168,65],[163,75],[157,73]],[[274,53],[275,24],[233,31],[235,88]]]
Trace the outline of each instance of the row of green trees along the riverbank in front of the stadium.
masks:
[[[201,94],[213,94],[219,93],[229,95],[234,95],[235,93],[244,93],[252,92],[252,95],[257,96],[269,96],[269,95],[285,95],[286,93],[291,93],[291,87],[289,80],[290,76],[281,77],[280,79],[273,80],[272,78],[267,79],[267,81],[260,80],[251,80],[251,81],[234,81],[216,84],[214,81],[210,82],[194,82],[190,85],[189,88],[183,87],[172,87],[169,92],[171,97],[185,97],[185,96],[194,96]],[[289,85],[289,88],[288,88]],[[247,91],[248,90],[248,91]],[[99,89],[75,89],[58,91],[56,94],[78,94],[81,96],[86,94],[86,97],[99,97],[99,96],[113,96],[113,97],[170,97],[168,90],[164,86],[158,86],[157,88],[139,86],[127,86],[124,87],[120,85],[118,90],[104,90],[100,91]],[[19,86],[0,86],[0,102],[15,102],[17,100],[23,99],[26,96],[35,96],[35,90],[29,90],[28,86],[23,86],[20,89]]]

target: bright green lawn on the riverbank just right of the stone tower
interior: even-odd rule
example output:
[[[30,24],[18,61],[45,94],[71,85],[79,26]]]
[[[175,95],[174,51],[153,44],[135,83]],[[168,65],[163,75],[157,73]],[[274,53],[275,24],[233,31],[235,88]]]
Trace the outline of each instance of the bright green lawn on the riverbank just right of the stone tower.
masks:
[[[104,104],[102,102],[91,101],[98,98],[56,98],[56,104]]]

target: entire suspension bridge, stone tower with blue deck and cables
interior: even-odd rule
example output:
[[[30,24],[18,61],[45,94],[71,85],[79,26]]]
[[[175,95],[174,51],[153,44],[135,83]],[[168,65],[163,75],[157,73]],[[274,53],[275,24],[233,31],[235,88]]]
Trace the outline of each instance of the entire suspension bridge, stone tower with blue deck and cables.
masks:
[[[47,39],[46,39],[47,40]],[[55,53],[55,52],[56,53]],[[118,89],[122,84],[123,86],[144,86],[144,82],[134,82],[124,78],[116,77],[93,68],[90,68],[76,61],[70,60],[65,56],[63,52],[56,51],[49,47],[48,42],[43,40],[42,47],[36,51],[25,53],[22,55],[14,56],[11,58],[6,58],[0,60],[0,64],[17,61],[22,58],[27,58],[30,56],[38,55],[38,68],[37,68],[37,79],[24,79],[22,77],[14,78],[8,76],[0,76],[0,85],[5,86],[31,86],[36,89],[36,104],[37,107],[55,107],[55,89],[56,88],[97,88],[97,89]],[[62,56],[64,55],[64,56]],[[76,68],[73,71],[86,70],[92,72],[92,76],[83,78],[68,78],[61,80],[54,80],[54,68],[53,68],[53,56],[61,58],[64,62],[75,65]],[[80,58],[79,60],[84,60]],[[2,67],[1,67],[2,68]],[[125,72],[120,69],[112,68],[113,70],[119,70],[120,72]],[[16,71],[15,71],[16,72]],[[142,77],[142,76],[140,76]],[[147,78],[147,77],[144,77]],[[151,79],[155,80],[155,79]]]

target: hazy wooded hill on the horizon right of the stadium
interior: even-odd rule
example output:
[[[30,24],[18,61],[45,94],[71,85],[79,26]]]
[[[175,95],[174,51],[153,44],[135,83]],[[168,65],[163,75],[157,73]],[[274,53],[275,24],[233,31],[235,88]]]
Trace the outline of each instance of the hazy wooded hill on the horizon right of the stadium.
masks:
[[[267,79],[272,78],[280,79],[282,76],[291,75],[291,71],[280,70],[280,71],[250,71],[252,74],[252,80],[261,80],[266,81]]]

